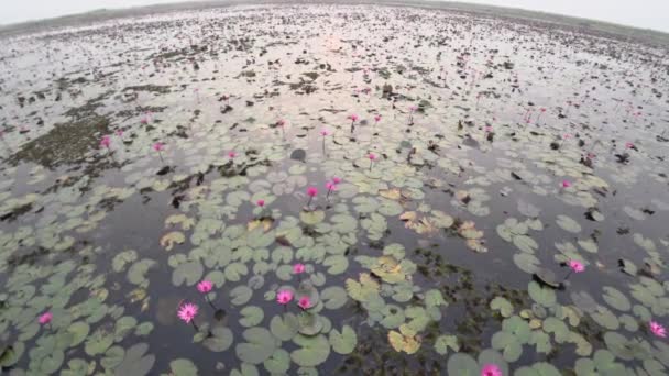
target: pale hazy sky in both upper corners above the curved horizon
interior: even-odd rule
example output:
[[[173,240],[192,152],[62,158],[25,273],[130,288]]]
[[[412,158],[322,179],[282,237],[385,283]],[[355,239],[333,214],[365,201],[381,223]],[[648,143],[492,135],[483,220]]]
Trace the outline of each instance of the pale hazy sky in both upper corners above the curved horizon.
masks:
[[[539,10],[669,32],[669,0],[461,0]],[[147,5],[175,0],[0,0],[0,24],[100,8]]]

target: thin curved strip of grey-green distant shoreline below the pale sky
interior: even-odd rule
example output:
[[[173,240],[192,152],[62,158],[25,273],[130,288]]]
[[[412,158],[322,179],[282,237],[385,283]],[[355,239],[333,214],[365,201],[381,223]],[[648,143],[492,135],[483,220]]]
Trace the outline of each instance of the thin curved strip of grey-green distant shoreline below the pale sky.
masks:
[[[650,29],[638,29],[615,23],[580,19],[560,14],[528,11],[517,8],[505,8],[465,2],[429,1],[429,0],[209,0],[175,2],[155,5],[144,5],[123,9],[102,9],[86,13],[64,15],[39,21],[21,22],[0,26],[0,37],[20,36],[74,25],[91,25],[114,19],[145,16],[150,14],[171,13],[186,10],[227,8],[234,5],[289,5],[289,4],[341,4],[341,5],[386,5],[437,9],[462,12],[474,15],[485,15],[511,21],[536,23],[536,26],[557,26],[568,31],[594,36],[616,38],[619,41],[641,42],[657,47],[669,48],[669,33]]]

